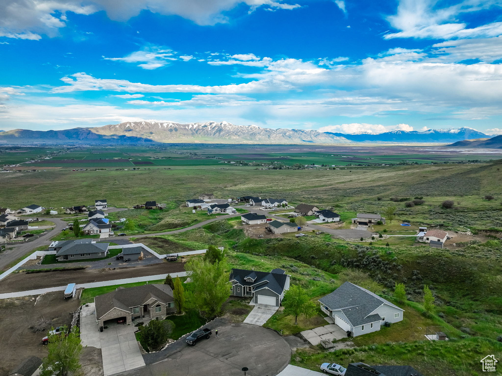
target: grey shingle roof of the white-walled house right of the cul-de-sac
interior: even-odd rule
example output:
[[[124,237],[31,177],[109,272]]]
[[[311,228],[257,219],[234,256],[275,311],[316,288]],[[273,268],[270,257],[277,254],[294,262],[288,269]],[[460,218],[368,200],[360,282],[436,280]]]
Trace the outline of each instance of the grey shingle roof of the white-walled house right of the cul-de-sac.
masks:
[[[384,298],[350,282],[344,282],[339,288],[322,297],[319,301],[332,311],[342,311],[352,326],[381,320],[379,315],[370,315],[370,313],[384,303],[403,311]]]

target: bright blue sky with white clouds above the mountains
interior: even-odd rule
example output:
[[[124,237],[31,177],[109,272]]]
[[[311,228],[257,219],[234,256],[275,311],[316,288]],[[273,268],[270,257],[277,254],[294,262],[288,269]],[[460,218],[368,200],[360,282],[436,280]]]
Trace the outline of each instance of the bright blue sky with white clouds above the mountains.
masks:
[[[2,0],[0,129],[502,133],[502,0]]]

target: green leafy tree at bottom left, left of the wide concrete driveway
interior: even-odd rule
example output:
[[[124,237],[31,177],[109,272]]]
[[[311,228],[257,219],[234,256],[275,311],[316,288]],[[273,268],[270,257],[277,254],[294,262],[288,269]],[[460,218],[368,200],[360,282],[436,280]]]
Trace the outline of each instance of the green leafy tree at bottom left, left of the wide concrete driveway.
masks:
[[[47,357],[42,362],[42,376],[68,376],[80,369],[80,333],[74,326],[68,335],[67,327],[63,327],[61,334],[49,335]]]

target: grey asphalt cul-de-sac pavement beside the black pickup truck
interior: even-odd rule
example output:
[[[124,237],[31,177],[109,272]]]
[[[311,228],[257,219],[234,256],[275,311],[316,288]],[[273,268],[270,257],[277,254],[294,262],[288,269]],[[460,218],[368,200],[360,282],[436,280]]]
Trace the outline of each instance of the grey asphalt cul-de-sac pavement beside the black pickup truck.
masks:
[[[216,327],[211,327],[214,332]],[[121,376],[276,375],[291,359],[291,347],[275,331],[244,323],[227,324],[195,346],[169,345],[162,359],[143,368],[121,372]],[[185,341],[185,338],[179,339]],[[170,347],[173,350],[170,351]]]

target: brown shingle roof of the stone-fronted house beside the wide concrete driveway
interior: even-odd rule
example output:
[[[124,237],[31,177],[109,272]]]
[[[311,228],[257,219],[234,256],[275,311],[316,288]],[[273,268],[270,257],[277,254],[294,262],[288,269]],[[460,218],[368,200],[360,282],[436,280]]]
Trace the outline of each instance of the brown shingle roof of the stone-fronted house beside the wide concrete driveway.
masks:
[[[173,290],[169,285],[148,284],[124,289],[122,287],[107,294],[94,298],[96,302],[96,317],[100,319],[112,308],[120,308],[129,313],[133,313],[132,307],[144,305],[151,298],[164,304],[171,303]]]

